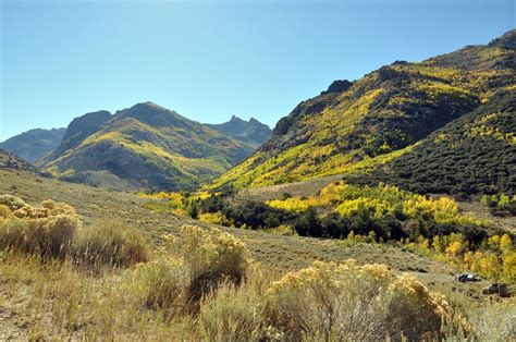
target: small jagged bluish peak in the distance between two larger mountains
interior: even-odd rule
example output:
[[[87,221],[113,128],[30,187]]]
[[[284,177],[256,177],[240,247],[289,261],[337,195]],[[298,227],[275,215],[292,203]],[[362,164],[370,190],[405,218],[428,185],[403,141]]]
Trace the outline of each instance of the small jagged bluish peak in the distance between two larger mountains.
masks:
[[[235,115],[233,115],[228,122],[207,125],[216,131],[228,134],[237,141],[256,147],[267,142],[272,133],[268,125],[254,118],[250,118],[249,121],[244,121]]]

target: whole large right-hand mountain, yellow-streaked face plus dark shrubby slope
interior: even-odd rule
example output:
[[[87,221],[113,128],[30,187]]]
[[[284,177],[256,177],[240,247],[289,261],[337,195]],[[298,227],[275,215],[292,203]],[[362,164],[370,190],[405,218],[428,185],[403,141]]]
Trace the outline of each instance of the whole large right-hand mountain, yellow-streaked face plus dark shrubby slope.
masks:
[[[468,46],[417,63],[396,61],[355,82],[336,81],[319,96],[297,105],[278,122],[267,143],[209,187],[257,187],[330,174],[364,182],[371,174],[381,179],[380,169],[388,179],[391,166],[390,172],[400,173],[392,179],[405,178],[408,181],[398,183],[414,184],[420,174],[403,173],[406,168],[402,164],[411,158],[417,170],[425,169],[430,161],[417,157],[425,150],[434,155],[432,170],[440,168],[442,158],[450,158],[445,161],[450,169],[426,172],[425,183],[441,183],[454,172],[465,176],[490,173],[483,185],[469,193],[488,188],[514,193],[515,40],[516,30],[512,30],[489,45]],[[445,145],[434,143],[432,133],[441,134],[438,130],[447,127],[464,136],[465,131],[457,131],[460,125],[463,130],[477,127],[468,131],[468,139],[476,143],[454,154],[441,151]],[[490,142],[499,141],[482,145],[489,134]],[[470,148],[479,145],[481,163],[469,163],[470,169],[462,173],[464,164],[475,159]],[[509,154],[503,163],[501,151]],[[493,166],[497,167],[491,169]],[[450,182],[433,190],[450,193],[443,185]]]

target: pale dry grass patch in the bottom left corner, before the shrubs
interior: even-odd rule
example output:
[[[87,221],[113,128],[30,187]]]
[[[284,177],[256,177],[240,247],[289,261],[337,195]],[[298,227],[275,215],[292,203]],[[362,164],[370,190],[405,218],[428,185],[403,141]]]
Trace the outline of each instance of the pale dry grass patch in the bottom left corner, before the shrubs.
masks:
[[[133,270],[91,276],[71,260],[0,252],[0,340],[181,339],[187,322],[146,309]]]

